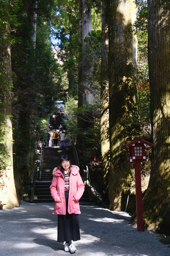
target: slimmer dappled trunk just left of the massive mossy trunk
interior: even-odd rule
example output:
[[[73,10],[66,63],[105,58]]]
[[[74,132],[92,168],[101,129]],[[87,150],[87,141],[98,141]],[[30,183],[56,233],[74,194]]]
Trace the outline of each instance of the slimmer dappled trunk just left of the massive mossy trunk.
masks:
[[[100,143],[104,171],[103,187],[107,188],[110,170],[109,142],[109,87],[108,87],[108,8],[107,0],[102,1],[102,49],[101,49],[101,110],[100,110]]]

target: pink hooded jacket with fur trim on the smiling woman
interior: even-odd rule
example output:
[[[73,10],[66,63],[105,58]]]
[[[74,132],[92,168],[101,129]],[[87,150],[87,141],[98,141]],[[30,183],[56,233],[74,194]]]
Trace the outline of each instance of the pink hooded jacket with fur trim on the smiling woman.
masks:
[[[64,196],[64,176],[63,173],[58,170],[57,168],[54,169],[54,177],[50,186],[51,196],[56,200],[60,197],[61,202],[56,202],[54,205],[53,214],[66,214],[66,203],[65,203],[65,196]],[[83,184],[82,178],[79,174],[78,166],[71,167],[71,174],[69,177],[69,200],[68,200],[68,212],[79,214],[80,207],[78,200],[83,195],[85,190],[85,185]],[[75,197],[76,201],[72,200],[73,196]]]

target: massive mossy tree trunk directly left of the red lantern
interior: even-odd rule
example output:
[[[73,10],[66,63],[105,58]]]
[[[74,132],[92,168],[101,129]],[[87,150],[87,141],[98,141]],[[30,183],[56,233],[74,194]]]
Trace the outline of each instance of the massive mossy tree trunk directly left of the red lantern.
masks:
[[[139,129],[132,116],[138,111],[136,82],[137,38],[132,32],[136,19],[133,0],[109,0],[109,130],[110,130],[110,209],[120,211],[121,193],[131,173],[122,146]],[[138,127],[137,127],[138,126]]]

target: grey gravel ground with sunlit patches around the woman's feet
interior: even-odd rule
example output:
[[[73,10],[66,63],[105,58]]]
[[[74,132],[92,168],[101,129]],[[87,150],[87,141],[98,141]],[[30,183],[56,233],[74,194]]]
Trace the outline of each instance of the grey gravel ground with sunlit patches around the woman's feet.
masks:
[[[57,215],[54,204],[30,204],[0,211],[1,256],[63,256],[63,243],[57,243]],[[137,232],[129,225],[127,213],[111,212],[95,205],[81,205],[81,240],[74,242],[81,256],[170,256],[157,234]]]

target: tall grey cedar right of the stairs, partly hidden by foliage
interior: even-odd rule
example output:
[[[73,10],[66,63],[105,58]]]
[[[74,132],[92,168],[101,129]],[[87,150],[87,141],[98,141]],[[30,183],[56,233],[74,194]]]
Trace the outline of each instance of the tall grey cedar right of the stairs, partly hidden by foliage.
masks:
[[[84,41],[85,37],[88,36],[88,33],[92,31],[92,6],[91,3],[87,0],[80,1],[79,14],[82,15],[79,20],[82,20],[82,27],[81,27],[81,43],[82,43],[82,59],[79,68],[81,69],[78,72],[78,107],[84,105],[85,101],[89,104],[94,103],[93,94],[92,94],[92,62],[87,57],[87,48],[86,43]],[[78,118],[78,128],[83,130],[85,128],[89,128],[92,126],[92,119],[93,117],[90,115],[88,111],[84,113],[83,116]],[[90,120],[90,122],[89,122]],[[78,134],[78,149],[79,151],[85,150],[86,144],[82,143],[82,134]]]

